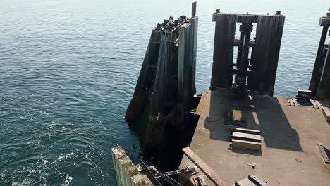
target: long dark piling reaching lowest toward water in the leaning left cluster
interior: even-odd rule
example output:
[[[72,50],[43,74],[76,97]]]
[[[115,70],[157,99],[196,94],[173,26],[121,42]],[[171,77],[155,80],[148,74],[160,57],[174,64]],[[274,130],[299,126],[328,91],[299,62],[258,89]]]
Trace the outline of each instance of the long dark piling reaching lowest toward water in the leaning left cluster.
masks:
[[[164,117],[168,114],[166,112],[166,101],[175,98],[169,97],[171,94],[171,68],[175,62],[174,51],[175,35],[168,32],[161,32],[161,42],[159,45],[159,59],[156,70],[156,77],[154,80],[154,94],[152,97],[152,111],[150,115],[149,124],[147,125],[147,137],[145,144],[145,153],[148,156],[156,156],[159,146],[162,144],[164,136]]]

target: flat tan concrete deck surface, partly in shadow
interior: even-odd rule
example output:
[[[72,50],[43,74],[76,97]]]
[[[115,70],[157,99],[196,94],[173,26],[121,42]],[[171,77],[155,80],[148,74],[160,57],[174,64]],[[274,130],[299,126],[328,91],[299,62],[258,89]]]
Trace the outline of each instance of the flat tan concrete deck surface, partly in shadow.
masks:
[[[330,185],[330,164],[324,163],[317,146],[330,144],[330,125],[322,109],[288,106],[288,99],[251,95],[235,101],[225,89],[205,92],[190,149],[228,185],[248,175],[268,185]],[[231,128],[236,126],[225,125],[228,118],[260,130],[261,151],[232,147]],[[181,167],[185,166],[196,164],[183,155]],[[215,185],[203,171],[198,175],[204,175],[207,185]]]

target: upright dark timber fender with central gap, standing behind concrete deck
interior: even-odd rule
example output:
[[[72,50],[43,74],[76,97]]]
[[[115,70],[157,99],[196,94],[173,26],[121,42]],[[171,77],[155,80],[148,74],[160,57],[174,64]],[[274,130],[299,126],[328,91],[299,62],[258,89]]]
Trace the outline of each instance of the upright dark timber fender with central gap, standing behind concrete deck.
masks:
[[[285,16],[280,11],[252,15],[221,13],[218,9],[212,20],[216,27],[210,89],[231,88],[234,84],[273,95]],[[236,23],[240,23],[240,38],[235,38]],[[253,29],[256,35],[251,38]],[[234,47],[238,48],[236,62]]]

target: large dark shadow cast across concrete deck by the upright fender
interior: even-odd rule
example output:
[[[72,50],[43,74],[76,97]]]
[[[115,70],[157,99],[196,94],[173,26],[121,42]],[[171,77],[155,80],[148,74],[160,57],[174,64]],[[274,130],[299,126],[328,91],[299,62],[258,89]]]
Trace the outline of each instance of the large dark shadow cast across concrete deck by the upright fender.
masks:
[[[226,120],[233,118],[246,122],[247,129],[260,130],[266,147],[302,151],[298,133],[291,128],[276,97],[252,95],[250,98],[238,101],[231,97],[228,90],[209,92],[209,116],[204,121],[204,128],[210,131],[210,138],[229,141],[231,128],[238,126],[225,125],[225,123]],[[238,153],[261,155],[255,151],[232,147],[228,149]]]

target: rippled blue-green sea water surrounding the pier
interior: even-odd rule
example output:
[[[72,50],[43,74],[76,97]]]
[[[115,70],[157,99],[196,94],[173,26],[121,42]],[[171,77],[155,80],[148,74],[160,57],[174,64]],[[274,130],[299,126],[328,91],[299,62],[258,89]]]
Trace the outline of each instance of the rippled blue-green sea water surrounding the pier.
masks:
[[[191,1],[0,0],[0,185],[115,185],[111,147],[138,161],[123,116],[152,27]],[[198,1],[197,92],[209,88],[216,8],[286,16],[276,95],[307,89],[330,4]]]

